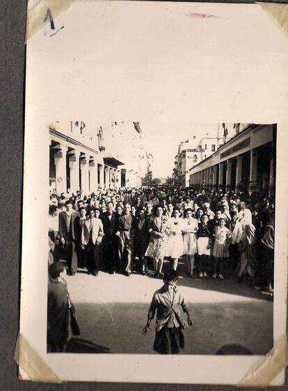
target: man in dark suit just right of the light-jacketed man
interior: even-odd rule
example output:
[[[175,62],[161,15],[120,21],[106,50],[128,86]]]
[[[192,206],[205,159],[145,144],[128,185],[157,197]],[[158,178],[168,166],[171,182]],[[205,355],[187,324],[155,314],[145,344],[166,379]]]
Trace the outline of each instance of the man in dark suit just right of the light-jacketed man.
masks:
[[[113,211],[113,202],[107,202],[106,209],[107,212],[102,214],[104,266],[108,273],[113,274],[119,266],[116,256],[118,238],[115,236],[116,213]]]

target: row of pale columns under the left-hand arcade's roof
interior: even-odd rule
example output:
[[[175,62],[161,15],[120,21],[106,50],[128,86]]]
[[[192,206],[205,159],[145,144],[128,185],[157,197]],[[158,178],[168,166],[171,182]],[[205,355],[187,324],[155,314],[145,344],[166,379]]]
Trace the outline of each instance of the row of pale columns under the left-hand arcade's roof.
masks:
[[[57,146],[57,150],[54,152],[54,163],[57,193],[66,193],[67,191],[67,169],[70,172],[70,191],[72,193],[81,190],[88,195],[99,187],[113,189],[120,186],[119,173],[116,168],[104,164],[100,165],[95,162],[93,157],[83,152],[77,150],[68,152],[65,145]]]

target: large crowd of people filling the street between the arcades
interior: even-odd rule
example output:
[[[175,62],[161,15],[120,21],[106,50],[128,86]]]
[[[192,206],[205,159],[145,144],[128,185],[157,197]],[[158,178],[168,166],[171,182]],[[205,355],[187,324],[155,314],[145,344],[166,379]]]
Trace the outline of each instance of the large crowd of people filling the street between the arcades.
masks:
[[[273,199],[180,186],[51,191],[49,264],[65,261],[70,276],[152,269],[163,278],[164,260],[177,271],[180,259],[189,278],[224,280],[230,269],[273,292]]]

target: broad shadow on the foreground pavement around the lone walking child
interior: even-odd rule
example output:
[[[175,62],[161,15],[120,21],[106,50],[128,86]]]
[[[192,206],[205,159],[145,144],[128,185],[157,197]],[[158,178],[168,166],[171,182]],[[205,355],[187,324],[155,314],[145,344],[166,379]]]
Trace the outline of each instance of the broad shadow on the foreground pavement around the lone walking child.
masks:
[[[193,326],[184,330],[182,354],[264,355],[273,347],[272,303],[189,302],[189,308]],[[92,343],[80,343],[72,352],[107,353],[101,349],[110,346],[110,353],[155,354],[155,319],[147,335],[142,333],[148,309],[149,303],[78,303],[81,337]]]

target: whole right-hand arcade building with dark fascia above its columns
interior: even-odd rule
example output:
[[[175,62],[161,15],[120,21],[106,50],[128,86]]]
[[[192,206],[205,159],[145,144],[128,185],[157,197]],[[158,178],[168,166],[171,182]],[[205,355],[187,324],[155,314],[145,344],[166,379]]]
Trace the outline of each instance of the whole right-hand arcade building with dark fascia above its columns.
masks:
[[[190,186],[275,195],[276,125],[253,125],[189,170]]]

